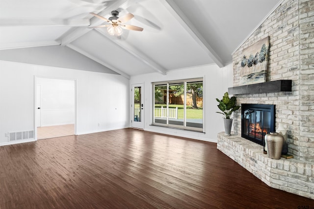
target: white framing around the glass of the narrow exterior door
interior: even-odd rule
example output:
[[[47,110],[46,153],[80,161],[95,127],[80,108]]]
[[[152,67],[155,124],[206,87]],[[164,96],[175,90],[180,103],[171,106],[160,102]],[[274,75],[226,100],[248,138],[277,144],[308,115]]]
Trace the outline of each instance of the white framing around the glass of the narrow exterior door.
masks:
[[[134,121],[134,88],[141,87],[141,104],[143,108],[141,110],[141,121]],[[144,83],[131,84],[131,128],[143,129],[144,130],[144,118],[145,118],[145,91]],[[141,108],[141,107],[140,107]]]

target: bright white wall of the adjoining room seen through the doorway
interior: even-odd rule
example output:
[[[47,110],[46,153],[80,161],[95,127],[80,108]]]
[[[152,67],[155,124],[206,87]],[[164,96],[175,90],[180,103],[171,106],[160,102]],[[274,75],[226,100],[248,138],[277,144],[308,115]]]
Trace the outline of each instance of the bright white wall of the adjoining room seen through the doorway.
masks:
[[[37,126],[75,123],[75,81],[36,78],[40,86],[40,121]]]

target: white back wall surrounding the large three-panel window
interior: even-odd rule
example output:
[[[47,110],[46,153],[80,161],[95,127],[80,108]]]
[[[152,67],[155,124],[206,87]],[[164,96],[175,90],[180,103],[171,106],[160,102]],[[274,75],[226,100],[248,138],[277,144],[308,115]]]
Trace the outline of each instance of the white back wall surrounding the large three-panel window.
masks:
[[[192,131],[151,126],[151,106],[153,98],[152,82],[199,77],[204,77],[204,112],[206,133],[204,134]],[[144,83],[144,107],[146,107],[144,110],[144,130],[213,142],[217,141],[217,133],[224,131],[222,115],[216,113],[219,111],[219,109],[217,107],[218,102],[215,100],[215,98],[221,99],[223,94],[228,91],[228,88],[233,86],[232,63],[228,64],[224,68],[219,68],[217,65],[207,65],[180,70],[171,70],[167,73],[167,75],[161,75],[160,73],[150,73],[132,76],[130,79],[130,84],[136,83]]]

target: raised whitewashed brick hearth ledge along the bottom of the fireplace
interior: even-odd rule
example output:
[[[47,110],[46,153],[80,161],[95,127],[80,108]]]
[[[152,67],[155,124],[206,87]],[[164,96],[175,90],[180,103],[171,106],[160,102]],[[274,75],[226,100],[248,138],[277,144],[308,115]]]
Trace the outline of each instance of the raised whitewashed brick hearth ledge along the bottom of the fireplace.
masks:
[[[295,159],[273,160],[260,144],[238,135],[218,133],[217,149],[262,180],[266,185],[314,199],[314,164]]]

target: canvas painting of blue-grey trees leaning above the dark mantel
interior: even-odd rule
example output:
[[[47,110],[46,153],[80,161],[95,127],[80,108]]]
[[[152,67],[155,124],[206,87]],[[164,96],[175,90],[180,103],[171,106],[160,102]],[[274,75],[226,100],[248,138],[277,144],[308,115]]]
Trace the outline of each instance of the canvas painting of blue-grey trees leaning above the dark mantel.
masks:
[[[240,63],[240,84],[256,84],[266,81],[269,37],[266,37],[242,51]]]

